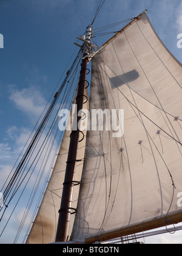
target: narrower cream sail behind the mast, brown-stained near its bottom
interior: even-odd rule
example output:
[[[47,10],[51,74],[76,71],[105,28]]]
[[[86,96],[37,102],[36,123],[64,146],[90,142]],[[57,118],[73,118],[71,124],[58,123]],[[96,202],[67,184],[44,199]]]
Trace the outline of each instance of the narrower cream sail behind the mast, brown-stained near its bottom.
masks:
[[[77,94],[77,92],[76,92]],[[86,90],[86,96],[88,97],[88,91]],[[76,96],[74,104],[76,102]],[[84,104],[84,108],[89,108],[89,103]],[[73,111],[73,110],[72,110]],[[70,113],[70,123],[68,126],[72,127],[72,112]],[[83,117],[83,122],[86,122],[87,117]],[[70,133],[72,130],[66,130],[62,139],[61,148],[53,168],[52,176],[45,191],[44,198],[41,206],[39,207],[36,219],[33,222],[32,230],[27,238],[27,244],[49,244],[55,242],[57,224],[58,224],[58,212],[61,205],[62,188],[64,182],[64,176],[66,171],[67,155],[69,151]],[[80,182],[81,174],[83,171],[83,159],[86,146],[86,130],[83,130],[84,140],[78,144],[77,160],[75,166],[75,181]],[[81,136],[83,136],[81,134]],[[81,137],[82,138],[82,137]],[[75,183],[76,185],[76,183]],[[73,190],[73,203],[72,207],[77,207],[79,186],[75,186]],[[71,215],[69,236],[72,233],[73,222],[75,215]],[[68,238],[69,239],[69,238]]]

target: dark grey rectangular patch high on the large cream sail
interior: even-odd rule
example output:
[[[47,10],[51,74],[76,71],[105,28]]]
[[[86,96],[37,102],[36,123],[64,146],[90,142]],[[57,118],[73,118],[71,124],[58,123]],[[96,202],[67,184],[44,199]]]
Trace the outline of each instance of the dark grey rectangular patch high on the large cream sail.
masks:
[[[111,77],[110,78],[111,88],[114,89],[116,87],[121,87],[124,84],[128,84],[130,82],[135,81],[136,79],[138,79],[138,77],[139,77],[139,74],[135,69],[125,74],[122,74],[120,76]]]

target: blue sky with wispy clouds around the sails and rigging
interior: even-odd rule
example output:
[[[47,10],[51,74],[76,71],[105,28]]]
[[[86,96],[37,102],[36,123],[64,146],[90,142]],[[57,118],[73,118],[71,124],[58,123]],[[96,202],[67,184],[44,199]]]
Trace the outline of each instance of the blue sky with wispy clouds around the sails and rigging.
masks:
[[[75,51],[76,36],[84,34],[99,2],[1,0],[0,34],[4,36],[4,49],[0,49],[1,181]],[[161,40],[182,62],[182,49],[177,48],[177,35],[182,34],[181,0],[106,0],[93,29],[132,18],[145,9]],[[100,46],[107,38],[98,37],[96,43]],[[160,236],[155,242],[179,243],[179,238],[180,235]]]

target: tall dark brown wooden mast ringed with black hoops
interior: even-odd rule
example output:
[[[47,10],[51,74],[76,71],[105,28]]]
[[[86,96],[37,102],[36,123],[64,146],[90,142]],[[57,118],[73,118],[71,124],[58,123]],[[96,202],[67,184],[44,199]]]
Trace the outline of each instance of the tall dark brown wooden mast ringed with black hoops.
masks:
[[[83,44],[83,57],[88,55],[90,38],[92,34],[92,27],[87,27],[87,35],[85,43]],[[56,232],[56,242],[65,242],[67,241],[67,236],[69,232],[69,221],[72,210],[72,194],[73,194],[73,186],[74,186],[74,176],[75,176],[75,163],[76,163],[76,154],[78,149],[79,142],[79,129],[78,123],[81,119],[81,116],[78,116],[79,110],[83,109],[83,101],[84,101],[84,89],[86,84],[86,76],[87,76],[87,65],[89,59],[83,59],[81,64],[81,71],[79,77],[78,84],[78,93],[76,97],[76,105],[77,105],[77,129],[72,131],[70,135],[70,146],[69,146],[69,154],[67,158],[67,166],[66,173],[64,179],[64,187],[62,190],[62,199],[61,199],[61,208],[59,210],[59,219],[58,219],[58,227]],[[73,123],[75,123],[73,121]]]

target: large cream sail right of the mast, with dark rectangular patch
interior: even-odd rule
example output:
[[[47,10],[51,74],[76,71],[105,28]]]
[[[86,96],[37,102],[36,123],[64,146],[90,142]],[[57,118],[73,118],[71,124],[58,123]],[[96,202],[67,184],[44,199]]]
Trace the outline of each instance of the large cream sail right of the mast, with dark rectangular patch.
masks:
[[[94,55],[91,84],[90,111],[124,109],[124,135],[87,133],[72,240],[182,221],[182,66],[146,14]]]

